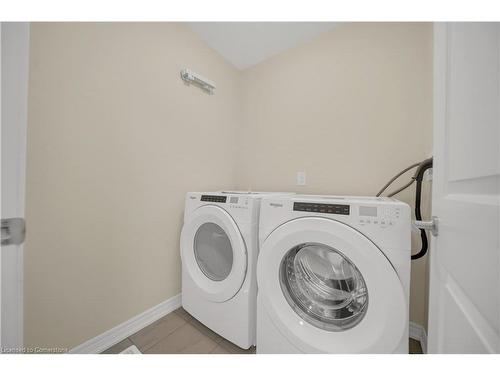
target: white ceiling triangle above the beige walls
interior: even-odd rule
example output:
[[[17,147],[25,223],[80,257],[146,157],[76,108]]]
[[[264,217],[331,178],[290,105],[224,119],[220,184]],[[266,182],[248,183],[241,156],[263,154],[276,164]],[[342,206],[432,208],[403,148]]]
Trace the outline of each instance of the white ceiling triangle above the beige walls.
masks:
[[[188,26],[243,70],[313,39],[338,22],[189,22]]]

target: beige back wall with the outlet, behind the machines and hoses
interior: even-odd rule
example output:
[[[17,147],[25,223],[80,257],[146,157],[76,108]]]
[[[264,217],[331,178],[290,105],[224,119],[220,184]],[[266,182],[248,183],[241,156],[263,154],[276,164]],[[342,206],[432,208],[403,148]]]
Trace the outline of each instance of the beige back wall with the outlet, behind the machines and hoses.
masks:
[[[245,70],[241,84],[239,188],[375,195],[432,153],[431,24],[338,26]],[[397,198],[413,203],[414,187]],[[425,263],[412,263],[410,309],[424,326]]]

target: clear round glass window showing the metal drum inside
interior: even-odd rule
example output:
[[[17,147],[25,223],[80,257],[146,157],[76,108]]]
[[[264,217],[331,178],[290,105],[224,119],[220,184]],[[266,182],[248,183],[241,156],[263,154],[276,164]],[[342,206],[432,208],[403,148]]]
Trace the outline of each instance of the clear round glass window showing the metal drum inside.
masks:
[[[304,243],[280,265],[281,290],[306,322],[328,331],[357,325],[368,307],[368,290],[358,268],[327,245]]]

